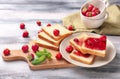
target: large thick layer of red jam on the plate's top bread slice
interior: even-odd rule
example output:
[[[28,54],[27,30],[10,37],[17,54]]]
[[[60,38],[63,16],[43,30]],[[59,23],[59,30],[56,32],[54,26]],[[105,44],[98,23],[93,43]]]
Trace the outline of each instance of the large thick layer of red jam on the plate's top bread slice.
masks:
[[[85,40],[85,46],[90,49],[105,50],[106,36],[101,36],[100,38],[89,37]]]

